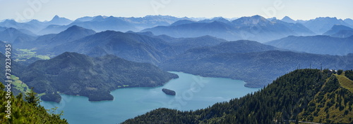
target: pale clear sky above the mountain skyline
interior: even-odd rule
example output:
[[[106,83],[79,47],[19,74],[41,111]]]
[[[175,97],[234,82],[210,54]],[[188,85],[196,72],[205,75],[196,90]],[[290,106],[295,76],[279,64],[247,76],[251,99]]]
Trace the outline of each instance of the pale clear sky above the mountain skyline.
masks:
[[[84,16],[241,18],[261,15],[294,20],[318,17],[353,19],[352,0],[0,0],[0,20],[76,20]]]

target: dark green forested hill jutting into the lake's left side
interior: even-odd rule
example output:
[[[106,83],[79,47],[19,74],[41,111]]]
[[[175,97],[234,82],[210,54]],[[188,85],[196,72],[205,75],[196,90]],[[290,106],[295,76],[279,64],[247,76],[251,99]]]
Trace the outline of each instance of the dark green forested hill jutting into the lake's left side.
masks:
[[[57,92],[85,96],[90,101],[112,100],[109,92],[117,88],[156,87],[178,78],[152,64],[130,62],[114,55],[88,57],[78,53],[34,62],[23,69],[20,77],[35,92],[51,95],[53,101],[60,97],[55,95]]]

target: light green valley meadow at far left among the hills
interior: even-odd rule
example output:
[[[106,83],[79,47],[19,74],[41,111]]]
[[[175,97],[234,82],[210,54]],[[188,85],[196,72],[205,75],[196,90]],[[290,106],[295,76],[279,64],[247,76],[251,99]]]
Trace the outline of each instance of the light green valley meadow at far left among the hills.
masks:
[[[31,57],[39,57],[42,60],[49,60],[50,57],[52,57],[52,55],[37,55],[37,52],[34,52],[33,50],[37,49],[18,49],[18,55],[16,56],[15,61],[25,61]]]

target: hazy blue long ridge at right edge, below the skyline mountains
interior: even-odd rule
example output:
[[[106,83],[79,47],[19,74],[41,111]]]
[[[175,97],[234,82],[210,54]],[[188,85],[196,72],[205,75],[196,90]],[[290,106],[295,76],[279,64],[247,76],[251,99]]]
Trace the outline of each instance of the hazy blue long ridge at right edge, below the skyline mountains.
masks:
[[[353,53],[353,36],[337,38],[332,36],[288,36],[265,43],[277,48],[306,53],[347,55]]]

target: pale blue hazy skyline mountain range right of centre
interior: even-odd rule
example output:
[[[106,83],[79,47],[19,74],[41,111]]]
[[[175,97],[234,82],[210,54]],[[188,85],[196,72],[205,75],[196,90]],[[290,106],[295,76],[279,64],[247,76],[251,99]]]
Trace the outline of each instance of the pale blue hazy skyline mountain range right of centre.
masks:
[[[260,42],[280,39],[289,35],[314,34],[301,24],[292,24],[280,20],[272,22],[259,15],[239,18],[232,22],[222,18],[199,22],[180,20],[169,26],[144,29],[142,32],[184,38],[210,35],[228,41],[249,39]]]

